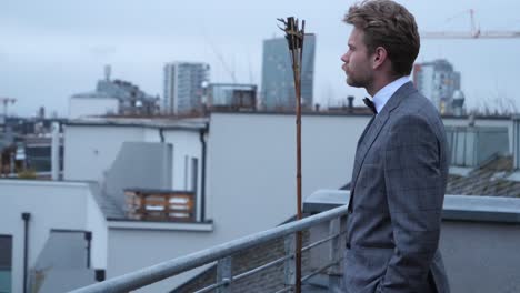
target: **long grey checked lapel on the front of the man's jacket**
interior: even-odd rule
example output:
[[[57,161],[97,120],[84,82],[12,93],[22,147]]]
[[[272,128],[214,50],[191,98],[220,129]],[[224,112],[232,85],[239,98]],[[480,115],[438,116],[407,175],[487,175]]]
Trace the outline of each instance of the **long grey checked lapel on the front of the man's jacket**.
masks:
[[[356,161],[354,161],[354,169],[352,172],[352,181],[351,181],[351,198],[353,191],[356,189],[356,181],[358,180],[359,171],[363,165],[364,158],[367,156],[368,151],[372,146],[373,142],[378,138],[381,129],[387,123],[387,120],[390,117],[390,113],[399,107],[401,101],[410,94],[410,92],[414,91],[413,84],[411,82],[404,83],[396,93],[392,94],[390,100],[388,100],[387,104],[383,107],[380,113],[376,115],[371,125],[369,125],[366,132],[361,135],[361,139],[358,143],[358,150],[356,152]]]

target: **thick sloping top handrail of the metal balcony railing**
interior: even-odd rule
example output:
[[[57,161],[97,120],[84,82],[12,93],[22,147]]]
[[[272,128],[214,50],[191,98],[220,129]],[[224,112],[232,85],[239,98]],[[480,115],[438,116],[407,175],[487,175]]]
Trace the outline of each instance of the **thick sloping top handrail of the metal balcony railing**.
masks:
[[[72,291],[73,293],[93,292],[128,292],[158,281],[171,277],[179,273],[217,261],[234,252],[253,247],[270,240],[281,238],[297,231],[306,230],[318,223],[329,221],[347,214],[347,205],[321,212],[299,221],[290,222],[262,232],[247,235],[241,239],[194,252],[181,257],[169,260],[152,266],[148,266],[134,272],[130,272],[107,281],[96,283],[86,287]]]

